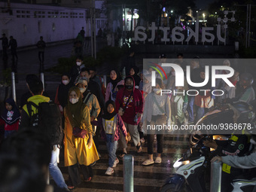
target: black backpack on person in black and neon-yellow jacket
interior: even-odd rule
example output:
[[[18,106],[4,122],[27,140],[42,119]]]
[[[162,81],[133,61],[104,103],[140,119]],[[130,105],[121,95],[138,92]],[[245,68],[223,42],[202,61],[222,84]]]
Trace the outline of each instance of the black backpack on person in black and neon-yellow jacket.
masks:
[[[32,106],[38,113],[32,115]],[[60,145],[63,139],[62,114],[59,106],[53,101],[41,102],[35,105],[34,102],[27,104],[30,126],[37,127],[38,132],[45,136],[51,145]]]

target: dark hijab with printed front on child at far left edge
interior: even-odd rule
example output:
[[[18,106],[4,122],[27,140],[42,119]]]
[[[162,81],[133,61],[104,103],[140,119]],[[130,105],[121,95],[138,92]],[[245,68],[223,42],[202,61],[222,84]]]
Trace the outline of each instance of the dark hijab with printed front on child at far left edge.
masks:
[[[14,102],[14,99],[9,98],[5,100],[5,103],[9,103],[13,108],[11,109],[11,111],[8,111],[7,108],[4,109],[4,111],[2,112],[2,119],[5,120],[5,123],[7,123],[8,125],[11,125],[13,123],[16,123],[17,120],[20,119],[20,111],[17,108],[17,105]]]

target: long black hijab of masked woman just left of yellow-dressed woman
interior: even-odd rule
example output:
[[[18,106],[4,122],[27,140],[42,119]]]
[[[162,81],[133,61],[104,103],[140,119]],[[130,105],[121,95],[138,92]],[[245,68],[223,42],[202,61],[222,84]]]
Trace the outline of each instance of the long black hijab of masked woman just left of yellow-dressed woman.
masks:
[[[61,84],[59,85],[59,92],[58,92],[58,100],[59,104],[62,105],[62,108],[64,108],[67,105],[67,101],[69,100],[69,89],[72,87],[72,83],[70,81],[70,75],[67,73],[62,74],[61,78],[63,76],[67,76],[69,78],[69,84]]]

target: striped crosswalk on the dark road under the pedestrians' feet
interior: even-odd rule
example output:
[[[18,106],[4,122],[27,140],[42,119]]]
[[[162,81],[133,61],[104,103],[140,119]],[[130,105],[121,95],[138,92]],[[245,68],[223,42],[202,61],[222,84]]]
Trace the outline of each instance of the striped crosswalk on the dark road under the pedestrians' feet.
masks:
[[[134,191],[156,192],[160,190],[166,178],[173,172],[172,165],[175,160],[180,158],[184,151],[187,150],[187,136],[166,135],[163,142],[162,163],[151,166],[142,166],[142,162],[148,158],[147,139],[145,140],[145,143],[142,144],[142,152],[139,154],[136,152],[136,147],[133,143],[129,143],[127,148],[128,153],[134,157]],[[156,147],[157,143],[154,144],[154,151],[157,151]],[[105,175],[105,171],[108,169],[108,153],[105,142],[99,142],[98,151],[101,157],[96,165],[93,166],[94,175],[92,181],[82,182],[72,191],[123,191],[123,160],[118,157],[119,151],[117,151],[117,157],[120,162],[114,168],[114,173],[111,176]],[[156,157],[156,153],[154,157]],[[68,181],[68,169],[63,166],[63,161],[59,163],[59,167],[65,180]]]

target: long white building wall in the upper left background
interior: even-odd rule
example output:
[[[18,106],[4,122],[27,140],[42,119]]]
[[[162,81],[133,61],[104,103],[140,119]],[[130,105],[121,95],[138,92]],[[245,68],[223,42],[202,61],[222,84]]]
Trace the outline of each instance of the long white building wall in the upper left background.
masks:
[[[0,8],[0,33],[12,35],[18,47],[36,44],[40,36],[45,42],[75,39],[82,26],[85,36],[90,36],[90,8],[11,3],[8,11],[6,2],[0,2]],[[96,32],[106,22],[104,16],[96,18]]]

